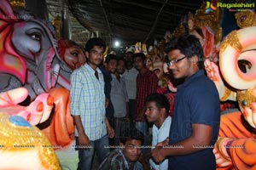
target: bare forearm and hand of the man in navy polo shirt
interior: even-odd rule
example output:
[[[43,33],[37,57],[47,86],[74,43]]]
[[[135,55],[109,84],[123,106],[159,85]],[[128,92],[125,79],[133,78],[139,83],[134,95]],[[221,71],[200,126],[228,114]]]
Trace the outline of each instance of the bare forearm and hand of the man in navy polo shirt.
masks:
[[[192,135],[172,145],[157,146],[151,150],[154,161],[161,162],[168,156],[182,156],[205,150],[212,139],[212,127],[204,124],[192,124]]]

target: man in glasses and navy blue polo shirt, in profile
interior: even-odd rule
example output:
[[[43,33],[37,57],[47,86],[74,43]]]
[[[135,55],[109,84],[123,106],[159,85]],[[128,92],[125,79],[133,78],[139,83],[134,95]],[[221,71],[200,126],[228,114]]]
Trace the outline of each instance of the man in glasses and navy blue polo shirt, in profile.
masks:
[[[166,44],[167,65],[177,86],[169,144],[158,144],[151,151],[154,161],[169,159],[169,169],[215,170],[213,145],[218,138],[219,97],[214,83],[205,75],[203,51],[193,35],[177,37]]]

